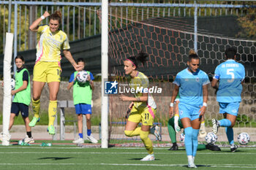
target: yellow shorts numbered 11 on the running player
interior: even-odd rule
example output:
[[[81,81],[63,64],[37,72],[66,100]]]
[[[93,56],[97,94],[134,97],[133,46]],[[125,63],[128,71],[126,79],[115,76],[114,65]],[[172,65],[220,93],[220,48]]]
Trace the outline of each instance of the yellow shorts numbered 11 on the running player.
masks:
[[[150,108],[151,111],[156,114],[156,109]],[[143,125],[153,125],[154,117],[151,115],[150,109],[146,107],[145,109],[137,109],[132,107],[132,110],[129,114],[128,121],[134,123],[142,123]]]

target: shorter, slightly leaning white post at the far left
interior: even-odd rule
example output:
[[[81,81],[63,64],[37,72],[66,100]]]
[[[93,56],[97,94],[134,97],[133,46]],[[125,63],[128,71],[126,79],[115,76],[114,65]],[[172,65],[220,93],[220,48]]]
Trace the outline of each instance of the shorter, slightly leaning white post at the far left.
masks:
[[[9,124],[10,124],[10,112],[12,104],[11,95],[11,63],[12,63],[12,44],[13,34],[6,34],[6,42],[4,48],[4,101],[3,101],[3,140],[2,145],[9,146]]]

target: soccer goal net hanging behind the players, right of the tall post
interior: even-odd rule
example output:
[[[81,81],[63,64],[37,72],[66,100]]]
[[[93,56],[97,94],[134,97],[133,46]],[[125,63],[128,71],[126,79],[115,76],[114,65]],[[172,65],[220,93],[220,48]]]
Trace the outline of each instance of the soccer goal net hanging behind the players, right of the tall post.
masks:
[[[148,54],[148,61],[139,65],[139,71],[148,76],[150,86],[162,88],[162,93],[154,93],[157,103],[155,125],[162,131],[162,142],[155,144],[170,144],[167,131],[169,120],[168,109],[170,96],[173,90],[173,80],[176,74],[187,67],[189,50],[194,49],[194,25],[189,20],[193,18],[177,18],[157,12],[157,8],[139,7],[110,7],[109,8],[109,74],[110,80],[116,80],[119,90],[129,82],[129,77],[124,74],[123,61],[125,58],[143,51]],[[172,12],[172,11],[171,11]],[[175,12],[175,11],[174,11]],[[156,15],[156,13],[158,15]],[[100,12],[99,12],[100,14]],[[212,19],[212,18],[211,18]],[[221,19],[221,18],[220,18]],[[218,23],[215,18],[215,23]],[[223,24],[223,22],[222,22]],[[241,94],[242,101],[234,127],[234,140],[241,132],[246,132],[251,137],[249,145],[255,144],[256,128],[256,42],[245,39],[235,39],[211,30],[200,29],[197,31],[197,53],[200,57],[200,69],[208,74],[210,80],[219,63],[225,61],[225,49],[234,46],[238,50],[236,60],[246,69],[246,79]],[[219,114],[219,104],[216,101],[215,90],[208,87],[208,108],[205,115],[206,131],[211,131],[211,119],[222,119]],[[120,91],[119,91],[120,93]],[[124,136],[127,108],[129,102],[120,101],[118,95],[109,95],[109,137],[110,144],[120,146],[140,146],[140,137],[128,138]],[[179,142],[177,134],[177,142]],[[217,144],[228,144],[225,128],[220,128]],[[156,141],[154,135],[150,138]],[[206,143],[205,139],[199,139]],[[248,145],[247,145],[248,146]]]

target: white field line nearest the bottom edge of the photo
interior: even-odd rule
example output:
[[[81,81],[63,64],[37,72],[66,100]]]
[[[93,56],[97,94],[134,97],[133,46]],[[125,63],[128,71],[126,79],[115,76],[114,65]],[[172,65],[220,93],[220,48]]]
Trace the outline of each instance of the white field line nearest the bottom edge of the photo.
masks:
[[[1,166],[67,166],[67,165],[88,165],[88,166],[187,166],[187,164],[139,164],[139,163],[0,163]],[[197,165],[198,166],[198,165]],[[206,164],[200,165],[208,168],[246,168],[255,169],[256,164]]]

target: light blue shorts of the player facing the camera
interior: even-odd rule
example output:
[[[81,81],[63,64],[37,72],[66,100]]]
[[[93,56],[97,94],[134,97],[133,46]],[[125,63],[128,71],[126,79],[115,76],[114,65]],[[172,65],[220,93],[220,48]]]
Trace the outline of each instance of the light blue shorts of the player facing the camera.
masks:
[[[196,120],[197,118],[199,118],[199,115],[200,115],[199,110],[200,110],[199,106],[193,106],[193,105],[184,104],[184,103],[178,104],[178,113],[179,113],[180,119],[184,117],[189,117],[191,121]]]

